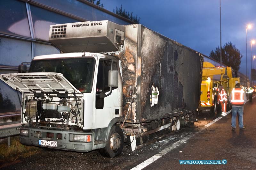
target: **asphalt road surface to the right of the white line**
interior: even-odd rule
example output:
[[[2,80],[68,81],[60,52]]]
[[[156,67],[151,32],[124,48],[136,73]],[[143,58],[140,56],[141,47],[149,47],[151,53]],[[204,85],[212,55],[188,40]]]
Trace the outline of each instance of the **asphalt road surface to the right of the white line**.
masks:
[[[244,106],[244,126],[231,131],[231,114],[197,133],[144,169],[255,169],[256,99]],[[182,152],[180,152],[182,151]],[[223,160],[225,165],[180,165],[179,160]]]

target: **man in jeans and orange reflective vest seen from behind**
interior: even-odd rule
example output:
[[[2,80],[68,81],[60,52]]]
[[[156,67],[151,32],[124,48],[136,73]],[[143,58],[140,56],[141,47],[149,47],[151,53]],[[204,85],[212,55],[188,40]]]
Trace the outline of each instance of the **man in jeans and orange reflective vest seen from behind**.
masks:
[[[238,125],[240,129],[244,129],[243,114],[244,104],[246,103],[246,95],[243,89],[240,87],[240,83],[236,84],[236,87],[232,89],[231,94],[228,97],[232,104],[232,119],[231,119],[231,130],[234,131],[236,128],[236,115],[238,113],[239,121]]]

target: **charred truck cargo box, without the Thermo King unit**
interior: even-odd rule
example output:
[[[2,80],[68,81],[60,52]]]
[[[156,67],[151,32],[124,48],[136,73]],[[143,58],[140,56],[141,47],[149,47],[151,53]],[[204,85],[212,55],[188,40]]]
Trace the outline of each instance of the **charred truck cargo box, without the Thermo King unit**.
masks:
[[[136,94],[128,122],[194,114],[200,100],[202,55],[140,24],[125,26],[123,92]],[[124,107],[126,115],[128,104]],[[128,113],[130,114],[130,113]]]

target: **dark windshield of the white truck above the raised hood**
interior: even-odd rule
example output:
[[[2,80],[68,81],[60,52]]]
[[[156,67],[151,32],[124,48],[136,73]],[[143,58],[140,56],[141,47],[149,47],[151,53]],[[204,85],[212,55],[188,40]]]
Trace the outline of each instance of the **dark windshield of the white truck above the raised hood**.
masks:
[[[94,66],[94,58],[34,60],[31,62],[29,72],[61,73],[80,92],[90,93]]]

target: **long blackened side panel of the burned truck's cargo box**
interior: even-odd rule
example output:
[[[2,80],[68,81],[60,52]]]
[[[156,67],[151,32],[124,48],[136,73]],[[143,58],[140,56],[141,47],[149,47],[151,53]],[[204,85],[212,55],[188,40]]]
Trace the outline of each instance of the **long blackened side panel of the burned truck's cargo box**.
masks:
[[[141,122],[195,111],[200,100],[201,55],[180,43],[141,28]],[[151,107],[152,85],[158,103]]]

